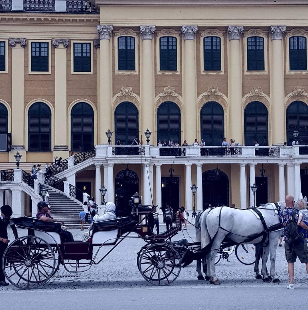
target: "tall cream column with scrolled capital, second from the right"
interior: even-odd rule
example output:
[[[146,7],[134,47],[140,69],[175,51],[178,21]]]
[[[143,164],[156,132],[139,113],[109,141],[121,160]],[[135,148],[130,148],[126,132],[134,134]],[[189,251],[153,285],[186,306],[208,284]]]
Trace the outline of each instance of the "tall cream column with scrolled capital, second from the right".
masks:
[[[242,56],[241,38],[243,26],[229,26],[228,99],[230,106],[230,138],[243,143],[242,115]]]

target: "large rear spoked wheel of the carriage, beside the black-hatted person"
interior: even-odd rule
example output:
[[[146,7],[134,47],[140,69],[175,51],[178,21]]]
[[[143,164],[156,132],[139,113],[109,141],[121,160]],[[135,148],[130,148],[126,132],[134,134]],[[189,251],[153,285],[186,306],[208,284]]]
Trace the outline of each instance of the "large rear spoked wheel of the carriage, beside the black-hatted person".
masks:
[[[21,289],[43,285],[54,274],[56,258],[51,246],[40,237],[13,241],[4,252],[2,268],[7,280]]]

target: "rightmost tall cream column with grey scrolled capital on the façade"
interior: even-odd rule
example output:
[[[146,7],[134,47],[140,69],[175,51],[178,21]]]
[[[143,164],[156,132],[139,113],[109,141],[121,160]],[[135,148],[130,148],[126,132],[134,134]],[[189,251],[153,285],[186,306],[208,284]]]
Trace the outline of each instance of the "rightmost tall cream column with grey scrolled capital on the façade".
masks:
[[[272,102],[272,143],[283,144],[281,131],[284,131],[284,55],[283,34],[286,26],[271,26],[271,49],[270,49],[270,92]],[[282,127],[281,127],[282,126]]]

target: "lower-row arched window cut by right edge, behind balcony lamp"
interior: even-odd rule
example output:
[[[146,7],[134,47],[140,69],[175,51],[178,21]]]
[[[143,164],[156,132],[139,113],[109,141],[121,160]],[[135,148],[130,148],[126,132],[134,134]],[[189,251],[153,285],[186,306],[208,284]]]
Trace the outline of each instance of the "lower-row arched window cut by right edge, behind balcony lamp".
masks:
[[[292,145],[293,131],[298,131],[299,144],[308,144],[308,106],[294,101],[287,108],[287,144]]]

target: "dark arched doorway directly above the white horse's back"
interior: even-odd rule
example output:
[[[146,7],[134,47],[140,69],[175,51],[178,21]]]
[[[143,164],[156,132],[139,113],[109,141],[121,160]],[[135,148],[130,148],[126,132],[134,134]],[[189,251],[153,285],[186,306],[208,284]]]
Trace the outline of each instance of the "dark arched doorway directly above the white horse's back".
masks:
[[[223,172],[218,176],[215,170],[202,173],[203,208],[210,203],[211,206],[229,206],[229,179]]]

